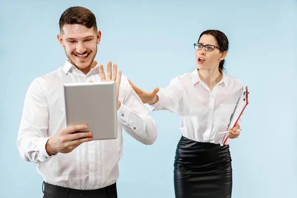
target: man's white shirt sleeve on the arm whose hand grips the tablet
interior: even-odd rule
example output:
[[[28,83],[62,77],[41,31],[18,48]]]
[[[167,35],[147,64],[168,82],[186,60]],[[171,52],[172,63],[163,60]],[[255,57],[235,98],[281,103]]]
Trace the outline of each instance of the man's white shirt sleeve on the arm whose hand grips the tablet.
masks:
[[[49,111],[42,78],[35,79],[25,96],[22,119],[17,137],[17,149],[26,161],[35,163],[49,159],[48,141]]]

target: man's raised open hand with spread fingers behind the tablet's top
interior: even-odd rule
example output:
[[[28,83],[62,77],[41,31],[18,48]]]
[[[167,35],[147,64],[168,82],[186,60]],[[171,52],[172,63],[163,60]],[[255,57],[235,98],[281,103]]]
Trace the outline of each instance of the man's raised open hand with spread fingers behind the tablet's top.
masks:
[[[116,81],[116,100],[117,100],[117,109],[119,110],[121,106],[121,102],[119,101],[119,90],[120,90],[120,83],[122,78],[122,71],[120,70],[118,75],[117,72],[117,64],[113,64],[113,71],[111,72],[111,61],[107,63],[107,76],[105,77],[103,65],[99,64],[99,72],[100,72],[100,81],[101,82],[108,82],[108,81]]]

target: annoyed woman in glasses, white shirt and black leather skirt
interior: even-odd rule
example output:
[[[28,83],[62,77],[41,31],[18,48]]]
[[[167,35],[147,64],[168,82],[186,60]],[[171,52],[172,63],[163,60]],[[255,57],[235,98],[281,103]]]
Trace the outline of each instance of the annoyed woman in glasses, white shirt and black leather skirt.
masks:
[[[166,88],[145,92],[131,81],[150,110],[181,115],[182,137],[174,161],[176,198],[231,198],[230,139],[240,133],[239,122],[228,129],[243,91],[242,83],[223,72],[229,42],[218,30],[201,33],[196,49],[197,69],[171,80]],[[228,129],[228,133],[218,134]],[[223,144],[225,138],[228,141]]]

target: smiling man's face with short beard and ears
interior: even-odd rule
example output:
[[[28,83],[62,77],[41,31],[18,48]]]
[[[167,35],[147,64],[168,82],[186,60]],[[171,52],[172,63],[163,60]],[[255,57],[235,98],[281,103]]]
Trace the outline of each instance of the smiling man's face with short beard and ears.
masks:
[[[97,44],[100,43],[101,32],[87,28],[80,24],[65,24],[58,41],[65,49],[66,56],[71,64],[87,74],[97,53]]]

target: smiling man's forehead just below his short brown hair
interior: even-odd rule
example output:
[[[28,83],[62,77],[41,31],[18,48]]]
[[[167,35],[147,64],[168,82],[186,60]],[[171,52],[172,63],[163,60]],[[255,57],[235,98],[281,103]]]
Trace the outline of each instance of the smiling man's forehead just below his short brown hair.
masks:
[[[63,37],[65,38],[75,38],[75,39],[82,39],[88,36],[94,36],[95,30],[94,28],[87,28],[81,24],[65,24],[62,28],[63,30]]]

